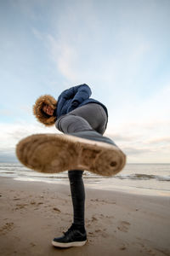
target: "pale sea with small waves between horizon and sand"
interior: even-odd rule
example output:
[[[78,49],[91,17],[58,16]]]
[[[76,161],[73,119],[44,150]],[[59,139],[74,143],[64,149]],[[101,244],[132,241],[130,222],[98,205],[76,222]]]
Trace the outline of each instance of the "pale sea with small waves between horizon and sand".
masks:
[[[0,177],[26,182],[69,184],[68,172],[46,174],[11,162],[0,163]],[[122,172],[113,177],[102,177],[85,171],[83,181],[91,189],[170,196],[170,164],[127,164]]]

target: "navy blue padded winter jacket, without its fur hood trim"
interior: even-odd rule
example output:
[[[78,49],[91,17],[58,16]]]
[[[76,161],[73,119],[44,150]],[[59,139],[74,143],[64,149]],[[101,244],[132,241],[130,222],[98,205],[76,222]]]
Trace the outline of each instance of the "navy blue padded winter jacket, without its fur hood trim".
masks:
[[[57,119],[65,114],[71,112],[73,109],[82,107],[88,103],[98,103],[105,109],[105,113],[108,116],[107,108],[101,102],[98,102],[90,98],[92,91],[88,84],[80,84],[70,89],[64,90],[58,97],[56,116]]]

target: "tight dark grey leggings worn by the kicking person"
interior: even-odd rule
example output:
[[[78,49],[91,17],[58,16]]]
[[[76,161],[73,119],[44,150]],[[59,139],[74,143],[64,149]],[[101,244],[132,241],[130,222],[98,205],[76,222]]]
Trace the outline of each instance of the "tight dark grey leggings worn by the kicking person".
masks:
[[[89,130],[95,130],[100,134],[104,134],[107,116],[104,108],[99,104],[89,103],[61,116],[55,125],[59,131],[67,134],[75,131]],[[68,172],[74,214],[73,223],[79,226],[84,226],[85,190],[82,180],[83,172],[81,170],[71,170]]]

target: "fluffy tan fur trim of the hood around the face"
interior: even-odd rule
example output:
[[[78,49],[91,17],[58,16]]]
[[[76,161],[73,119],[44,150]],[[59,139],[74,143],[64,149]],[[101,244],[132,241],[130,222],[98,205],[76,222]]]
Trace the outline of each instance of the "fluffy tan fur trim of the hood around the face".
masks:
[[[56,116],[49,116],[42,112],[42,106],[44,104],[49,105],[51,108],[55,109],[57,106],[57,101],[53,96],[44,95],[37,98],[37,101],[33,105],[33,114],[35,114],[37,120],[43,125],[50,126],[54,125],[56,121]]]

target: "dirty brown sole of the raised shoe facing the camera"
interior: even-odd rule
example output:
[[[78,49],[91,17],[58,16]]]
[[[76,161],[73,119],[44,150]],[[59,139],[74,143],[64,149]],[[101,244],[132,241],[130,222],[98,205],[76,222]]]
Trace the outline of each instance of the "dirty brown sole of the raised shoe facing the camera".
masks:
[[[20,162],[46,173],[87,170],[102,176],[122,171],[126,155],[109,143],[65,134],[35,134],[16,146]]]

